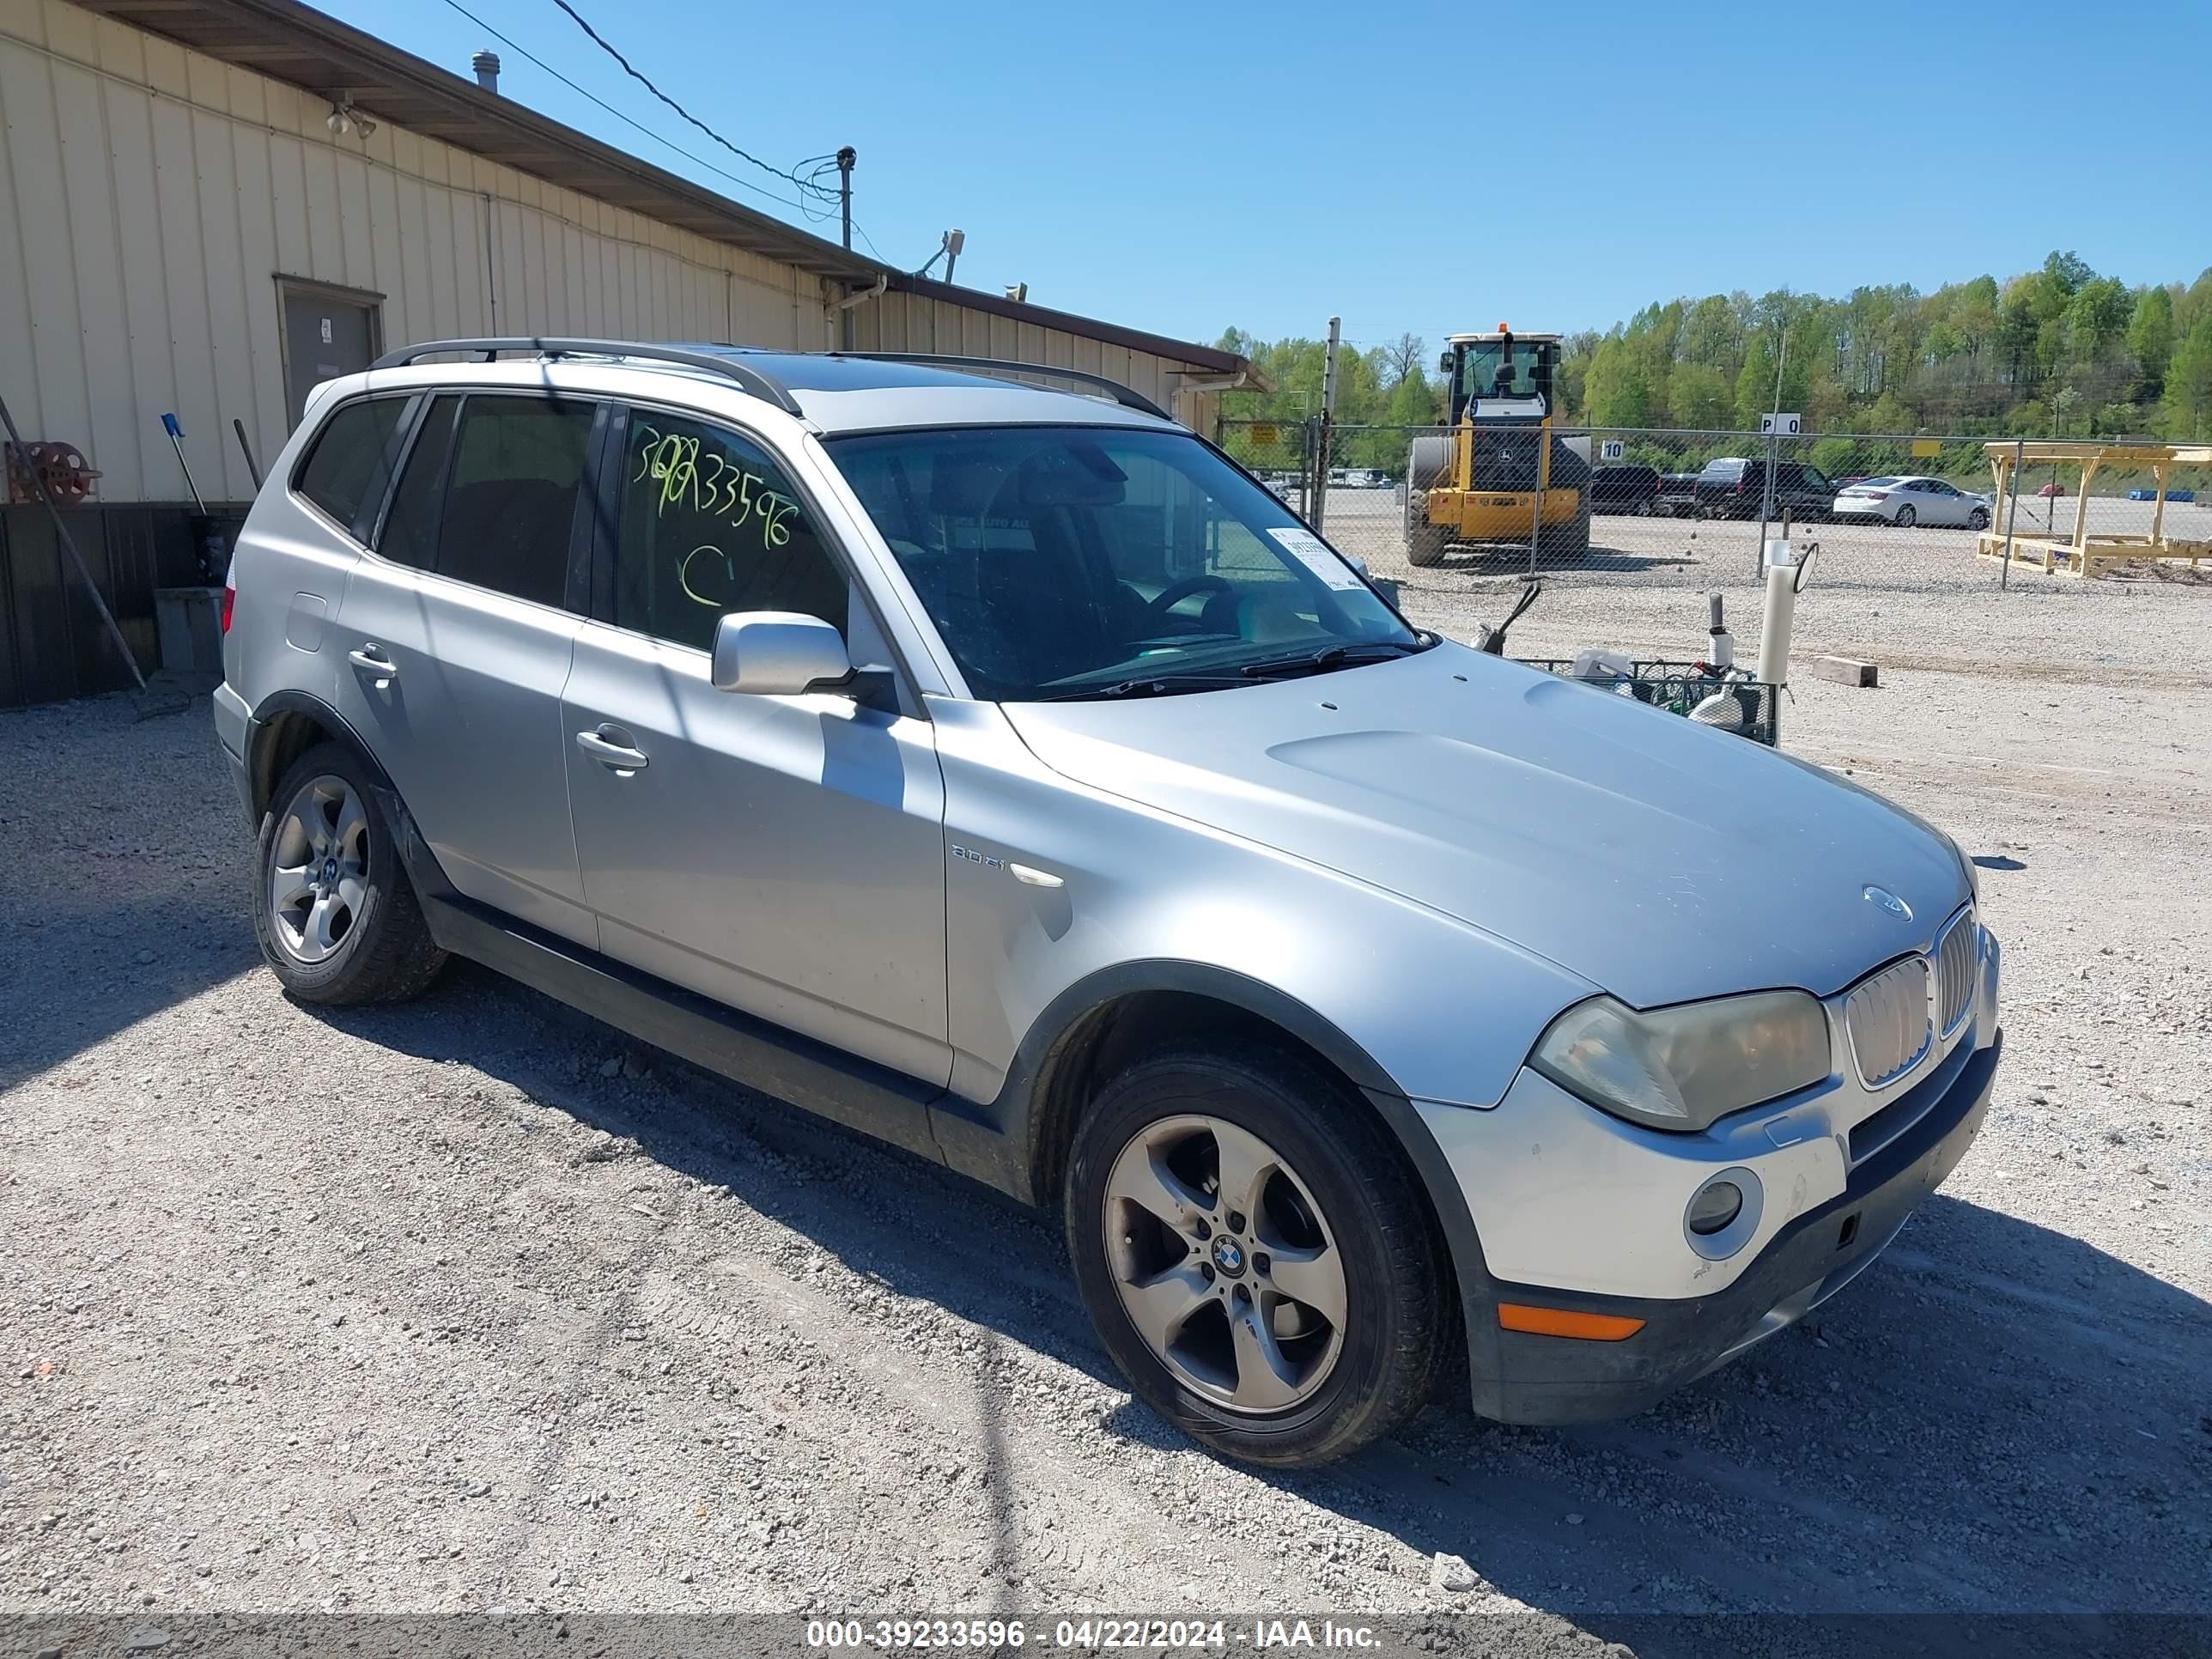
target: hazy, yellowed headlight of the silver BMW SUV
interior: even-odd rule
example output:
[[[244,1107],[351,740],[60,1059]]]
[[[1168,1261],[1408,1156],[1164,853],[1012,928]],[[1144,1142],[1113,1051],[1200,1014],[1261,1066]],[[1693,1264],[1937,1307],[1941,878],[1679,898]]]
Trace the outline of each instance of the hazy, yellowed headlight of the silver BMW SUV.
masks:
[[[1699,1130],[1827,1077],[1827,1013],[1803,991],[1652,1013],[1590,998],[1551,1022],[1528,1064],[1601,1110]]]

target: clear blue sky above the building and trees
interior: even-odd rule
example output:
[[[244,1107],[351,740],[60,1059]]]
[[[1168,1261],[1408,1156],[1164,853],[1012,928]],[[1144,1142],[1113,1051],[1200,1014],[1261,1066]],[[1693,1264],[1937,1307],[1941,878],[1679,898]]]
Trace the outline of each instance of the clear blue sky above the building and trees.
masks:
[[[509,97],[799,219],[447,0],[323,4],[460,73],[489,44]],[[553,0],[462,4],[790,195]],[[2051,248],[2130,283],[2212,259],[2183,161],[2203,155],[2212,7],[573,4],[754,155],[856,146],[854,219],[885,261],[911,270],[960,226],[958,281],[1026,281],[1042,305],[1181,338],[1318,336],[1334,312],[1360,345],[1411,330],[1433,347],[1500,321],[1604,327],[1674,294],[2002,279]]]

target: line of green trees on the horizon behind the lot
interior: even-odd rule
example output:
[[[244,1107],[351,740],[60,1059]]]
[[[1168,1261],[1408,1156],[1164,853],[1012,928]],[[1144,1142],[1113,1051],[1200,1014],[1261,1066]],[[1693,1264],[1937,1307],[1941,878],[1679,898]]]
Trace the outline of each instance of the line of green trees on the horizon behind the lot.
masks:
[[[1225,418],[1318,414],[1323,341],[1259,341],[1232,327],[1221,347],[1276,385],[1225,394]],[[1433,369],[1416,334],[1340,349],[1338,425],[1440,422]],[[1557,403],[1575,425],[1615,429],[1756,431],[1778,407],[1829,434],[2201,440],[2212,436],[2212,270],[2194,283],[2130,288],[2053,252],[2008,281],[1975,276],[1931,294],[1891,283],[1845,299],[1674,299],[1606,332],[1568,334]],[[1340,465],[1402,462],[1356,447],[1352,436]]]

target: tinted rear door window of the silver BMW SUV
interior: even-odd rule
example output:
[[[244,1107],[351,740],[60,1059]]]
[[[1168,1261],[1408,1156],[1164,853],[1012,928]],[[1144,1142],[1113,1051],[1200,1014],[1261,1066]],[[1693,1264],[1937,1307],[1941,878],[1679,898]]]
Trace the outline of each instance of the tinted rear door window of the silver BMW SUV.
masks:
[[[595,414],[557,398],[438,398],[376,551],[515,599],[564,604]]]

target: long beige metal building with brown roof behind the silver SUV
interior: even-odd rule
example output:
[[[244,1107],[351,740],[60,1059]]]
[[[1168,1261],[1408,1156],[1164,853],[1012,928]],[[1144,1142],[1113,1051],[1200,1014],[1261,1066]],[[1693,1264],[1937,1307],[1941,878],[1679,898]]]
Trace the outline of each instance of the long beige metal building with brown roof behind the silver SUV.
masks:
[[[334,122],[343,113],[343,122]],[[343,126],[343,131],[334,131]],[[951,288],[728,201],[296,0],[0,0],[0,398],[133,653],[305,389],[438,336],[1013,356],[1212,429],[1228,352]],[[18,480],[20,482],[20,480]],[[0,706],[128,684],[38,504],[0,498]]]

